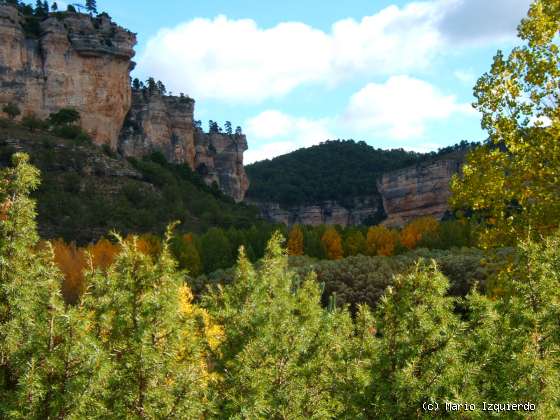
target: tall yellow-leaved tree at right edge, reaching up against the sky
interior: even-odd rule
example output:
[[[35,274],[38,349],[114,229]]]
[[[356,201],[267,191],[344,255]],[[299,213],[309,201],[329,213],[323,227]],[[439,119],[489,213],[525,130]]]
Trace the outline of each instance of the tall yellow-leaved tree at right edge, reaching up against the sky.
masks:
[[[452,182],[451,204],[473,209],[486,246],[512,244],[560,225],[560,3],[535,1],[518,28],[523,44],[474,88],[490,142]]]

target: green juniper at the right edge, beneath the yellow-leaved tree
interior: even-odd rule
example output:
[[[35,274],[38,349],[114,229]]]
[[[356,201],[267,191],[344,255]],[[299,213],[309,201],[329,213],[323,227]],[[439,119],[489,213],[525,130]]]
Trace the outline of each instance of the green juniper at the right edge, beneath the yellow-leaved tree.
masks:
[[[518,259],[499,274],[504,296],[472,293],[467,299],[471,397],[479,401],[528,401],[535,418],[560,416],[560,235],[525,242]]]

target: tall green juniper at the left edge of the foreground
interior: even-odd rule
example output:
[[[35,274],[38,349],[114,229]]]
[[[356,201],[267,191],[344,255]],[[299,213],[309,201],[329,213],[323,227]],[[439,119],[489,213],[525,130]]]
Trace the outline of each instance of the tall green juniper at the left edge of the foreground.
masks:
[[[60,418],[94,377],[86,320],[65,308],[62,275],[50,249],[37,251],[35,203],[39,185],[28,156],[13,156],[0,174],[0,417]]]

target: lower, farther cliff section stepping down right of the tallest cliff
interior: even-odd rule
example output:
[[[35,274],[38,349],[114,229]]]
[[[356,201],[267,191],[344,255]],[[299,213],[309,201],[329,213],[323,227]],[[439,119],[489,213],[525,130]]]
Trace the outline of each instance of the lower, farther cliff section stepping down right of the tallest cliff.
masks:
[[[119,137],[124,156],[159,151],[170,162],[186,163],[204,181],[214,182],[235,201],[243,200],[249,181],[243,167],[244,135],[207,134],[193,124],[194,100],[133,90],[132,107]]]

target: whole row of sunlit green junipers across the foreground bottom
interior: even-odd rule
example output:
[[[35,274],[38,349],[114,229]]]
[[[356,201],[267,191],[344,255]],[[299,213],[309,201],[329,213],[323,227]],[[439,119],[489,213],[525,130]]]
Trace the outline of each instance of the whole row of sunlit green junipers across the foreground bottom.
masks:
[[[322,305],[317,275],[289,267],[280,233],[257,265],[241,247],[231,282],[197,302],[171,230],[150,252],[117,237],[112,263],[86,254],[87,287],[67,305],[36,232],[38,171],[16,154],[0,181],[4,418],[427,418],[427,401],[560,415],[558,234],[519,244],[494,275],[499,295],[453,297],[420,258],[352,314],[334,294]]]

